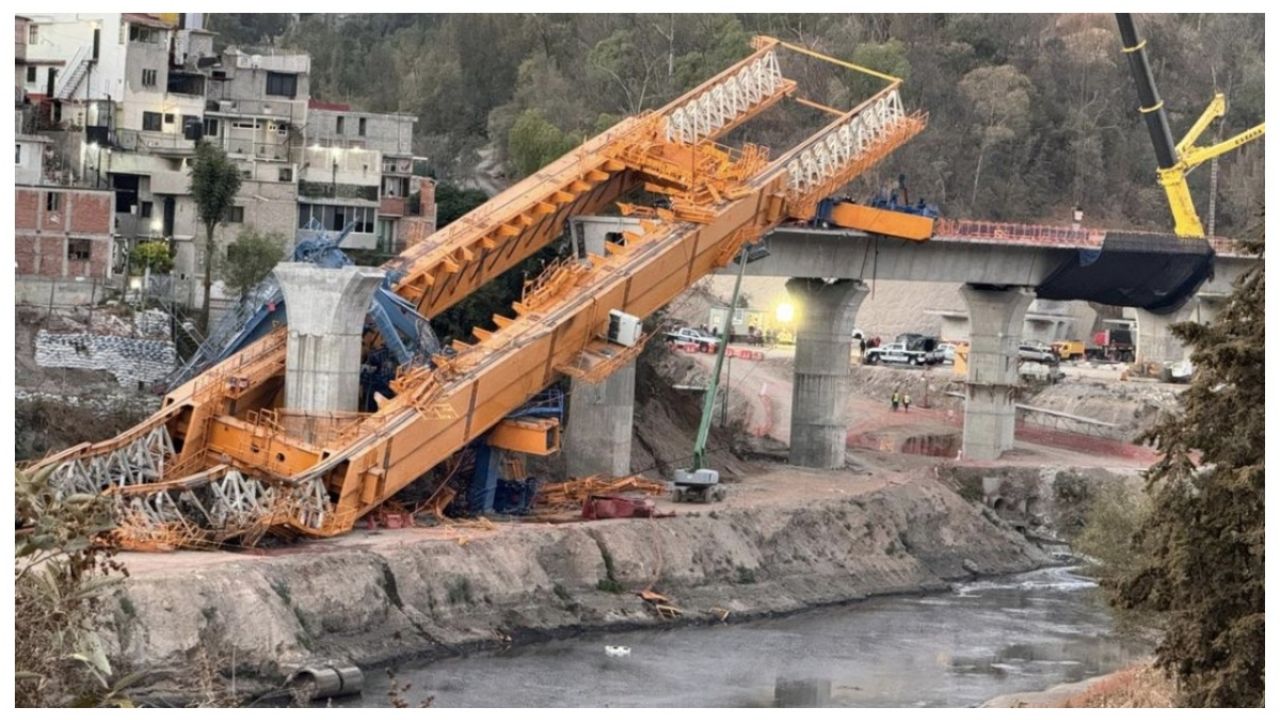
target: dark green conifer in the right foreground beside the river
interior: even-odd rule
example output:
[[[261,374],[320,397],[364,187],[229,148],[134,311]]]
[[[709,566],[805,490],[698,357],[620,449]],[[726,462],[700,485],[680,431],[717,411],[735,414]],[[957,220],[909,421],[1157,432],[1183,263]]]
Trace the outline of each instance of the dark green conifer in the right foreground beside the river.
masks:
[[[1261,706],[1265,662],[1265,268],[1238,282],[1219,318],[1179,323],[1196,377],[1181,409],[1146,439],[1153,506],[1135,536],[1146,561],[1117,602],[1167,615],[1156,650],[1190,706]]]

